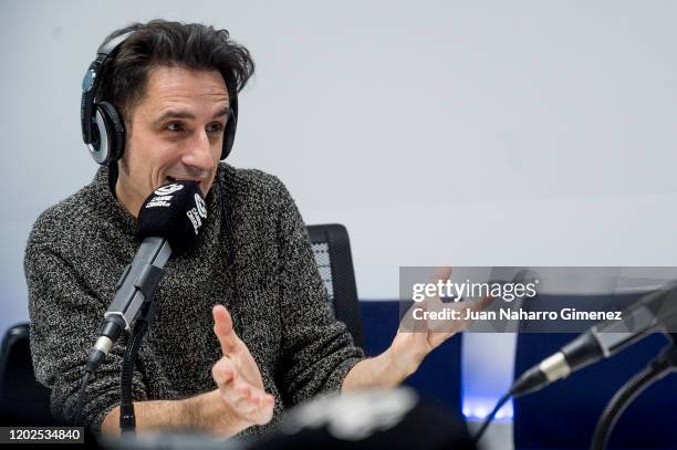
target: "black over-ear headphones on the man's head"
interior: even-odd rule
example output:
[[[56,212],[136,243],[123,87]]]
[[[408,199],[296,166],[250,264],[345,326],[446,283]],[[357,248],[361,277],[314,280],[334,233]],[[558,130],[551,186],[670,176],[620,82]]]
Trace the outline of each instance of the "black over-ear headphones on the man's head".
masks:
[[[102,166],[119,159],[125,150],[125,123],[117,108],[108,102],[95,103],[96,92],[107,64],[113,61],[119,45],[134,31],[113,38],[102,44],[96,51],[96,59],[90,64],[82,80],[82,101],[80,103],[80,122],[82,139],[90,148],[92,158]],[[221,159],[230,154],[238,126],[238,91],[223,75],[228,97],[230,98],[230,117],[223,130],[223,148]]]

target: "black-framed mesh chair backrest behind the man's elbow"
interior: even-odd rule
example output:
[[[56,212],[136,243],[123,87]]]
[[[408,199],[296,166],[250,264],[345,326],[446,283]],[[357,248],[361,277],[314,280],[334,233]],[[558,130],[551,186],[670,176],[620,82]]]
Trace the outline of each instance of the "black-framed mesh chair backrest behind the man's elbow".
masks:
[[[308,227],[308,233],[334,316],[345,323],[355,344],[364,348],[362,317],[360,316],[347,230],[337,223],[315,224]]]

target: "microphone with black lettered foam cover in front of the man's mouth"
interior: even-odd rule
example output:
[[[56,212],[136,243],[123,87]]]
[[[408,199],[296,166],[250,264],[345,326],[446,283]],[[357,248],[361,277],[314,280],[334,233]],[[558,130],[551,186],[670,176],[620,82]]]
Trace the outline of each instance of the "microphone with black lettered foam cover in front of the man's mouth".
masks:
[[[117,281],[85,371],[96,371],[122,332],[131,328],[142,306],[153,300],[167,260],[197,245],[205,219],[207,207],[196,181],[165,185],[144,201],[137,220],[142,244]]]

